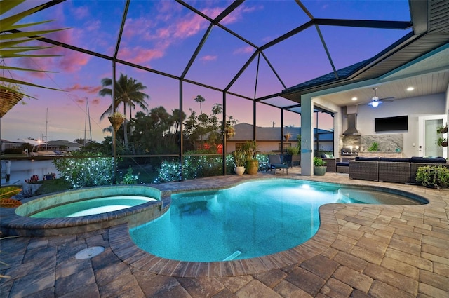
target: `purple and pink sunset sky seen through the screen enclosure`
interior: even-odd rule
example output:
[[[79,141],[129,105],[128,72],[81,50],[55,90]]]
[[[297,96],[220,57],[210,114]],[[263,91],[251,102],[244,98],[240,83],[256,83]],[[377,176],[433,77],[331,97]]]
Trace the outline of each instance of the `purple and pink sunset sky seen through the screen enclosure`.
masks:
[[[26,1],[20,5],[32,8],[46,1]],[[126,1],[65,1],[47,8],[27,22],[53,20],[42,28],[68,28],[46,37],[102,55],[114,55],[118,32]],[[210,18],[219,15],[232,1],[186,1]],[[302,1],[314,18],[337,18],[356,20],[410,20],[407,0],[394,1]],[[9,14],[8,14],[9,15]],[[4,18],[6,15],[2,15]],[[263,46],[282,34],[309,21],[309,17],[295,1],[246,1],[222,20],[221,24],[250,41]],[[130,1],[128,17],[121,38],[117,57],[134,64],[155,69],[163,74],[181,76],[196,46],[209,26],[208,20],[192,13],[175,1]],[[320,26],[336,69],[373,57],[387,48],[408,30],[370,29],[352,27]],[[41,43],[43,44],[43,43]],[[247,62],[255,48],[215,26],[186,79],[219,88],[226,88],[229,82]],[[3,76],[31,81],[32,83],[58,88],[64,91],[25,88],[25,93],[36,99],[25,99],[1,118],[1,138],[18,141],[32,137],[41,138],[46,133],[46,112],[48,109],[48,140],[69,140],[84,137],[86,125],[86,101],[91,115],[93,140],[101,142],[107,134],[102,129],[109,126],[107,119],[100,121],[100,115],[112,102],[110,97],[100,97],[103,78],[112,78],[112,62],[73,50],[54,47],[45,53],[60,57],[20,58],[5,60],[6,65],[45,69],[52,73],[12,72]],[[323,49],[315,27],[296,34],[285,41],[264,50],[269,63],[276,69],[285,86],[291,87],[317,76],[332,72],[332,67]],[[229,89],[246,97],[261,97],[279,93],[283,85],[260,60],[255,77],[257,59],[236,80]],[[147,86],[145,93],[148,109],[163,106],[168,112],[179,108],[179,81],[118,64],[116,76],[123,73]],[[206,98],[203,112],[210,113],[215,103],[222,103],[222,93],[216,90],[184,83],[184,111],[199,112],[196,95]],[[250,100],[228,95],[227,114],[239,123],[252,123],[253,104]],[[275,99],[286,101],[281,98]],[[286,106],[293,104],[287,102]],[[260,107],[259,107],[260,105]],[[279,126],[280,111],[264,104],[257,107],[257,126]],[[123,112],[123,110],[121,109]],[[136,109],[133,114],[138,111]],[[330,117],[329,117],[330,118]],[[286,126],[300,126],[300,117],[291,112],[284,118]],[[323,121],[320,128],[330,129],[332,123]],[[87,137],[89,137],[87,133]]]

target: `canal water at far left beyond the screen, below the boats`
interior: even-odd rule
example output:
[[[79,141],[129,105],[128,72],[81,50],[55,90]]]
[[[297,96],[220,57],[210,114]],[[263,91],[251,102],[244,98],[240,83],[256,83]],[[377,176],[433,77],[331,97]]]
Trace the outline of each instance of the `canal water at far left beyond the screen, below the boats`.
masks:
[[[36,160],[11,160],[10,179],[6,182],[6,162],[8,159],[1,159],[1,185],[22,184],[25,179],[29,179],[32,175],[38,175],[39,180],[43,180],[43,176],[54,172],[56,177],[60,177],[60,172],[56,170],[53,161],[36,161]]]

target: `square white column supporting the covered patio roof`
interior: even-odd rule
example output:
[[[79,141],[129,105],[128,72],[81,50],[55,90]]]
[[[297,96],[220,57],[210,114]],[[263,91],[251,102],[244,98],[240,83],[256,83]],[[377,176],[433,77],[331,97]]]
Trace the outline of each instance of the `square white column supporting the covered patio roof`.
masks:
[[[314,173],[314,103],[310,95],[301,95],[301,175]]]

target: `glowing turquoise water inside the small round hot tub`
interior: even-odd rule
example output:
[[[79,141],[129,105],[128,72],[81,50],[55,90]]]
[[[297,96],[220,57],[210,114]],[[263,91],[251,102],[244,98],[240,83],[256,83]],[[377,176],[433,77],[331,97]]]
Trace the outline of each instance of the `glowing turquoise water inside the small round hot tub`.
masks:
[[[146,196],[107,196],[102,198],[90,198],[73,203],[62,202],[62,205],[57,205],[37,212],[34,215],[30,215],[30,217],[54,218],[95,215],[130,208],[149,201],[156,201],[156,199]]]

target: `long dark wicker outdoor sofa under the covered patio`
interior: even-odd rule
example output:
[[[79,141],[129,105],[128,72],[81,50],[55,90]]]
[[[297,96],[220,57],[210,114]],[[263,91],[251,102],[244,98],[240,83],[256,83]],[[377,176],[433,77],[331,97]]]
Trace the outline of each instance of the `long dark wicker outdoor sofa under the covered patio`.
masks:
[[[449,168],[448,161],[443,157],[356,157],[354,161],[349,161],[349,178],[416,184],[417,169],[426,165],[443,165]]]

